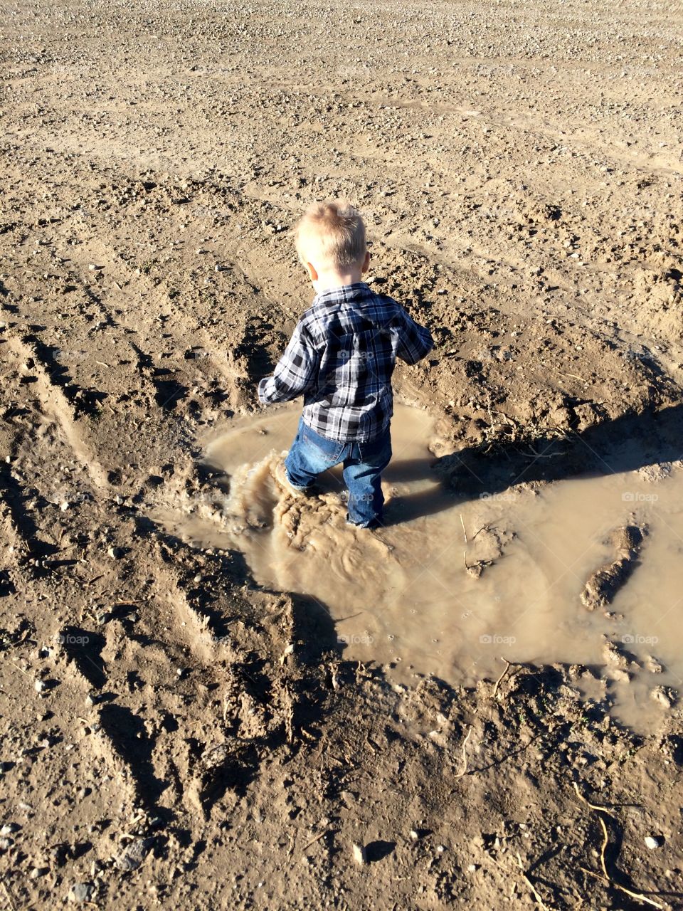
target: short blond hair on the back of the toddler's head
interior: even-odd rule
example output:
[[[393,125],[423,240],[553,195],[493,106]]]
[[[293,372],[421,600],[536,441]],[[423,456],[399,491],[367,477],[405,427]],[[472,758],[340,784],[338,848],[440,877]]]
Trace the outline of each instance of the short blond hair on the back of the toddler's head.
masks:
[[[294,233],[301,261],[317,260],[335,269],[357,265],[367,250],[361,214],[346,200],[316,202]]]

